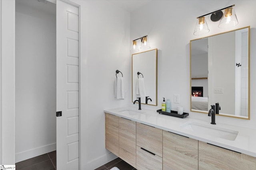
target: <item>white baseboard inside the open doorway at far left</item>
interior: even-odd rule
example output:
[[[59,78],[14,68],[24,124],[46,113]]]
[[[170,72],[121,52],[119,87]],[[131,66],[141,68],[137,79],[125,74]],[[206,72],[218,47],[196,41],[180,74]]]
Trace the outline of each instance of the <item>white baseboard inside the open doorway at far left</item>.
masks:
[[[42,147],[38,147],[35,149],[26,150],[24,152],[15,154],[15,162],[20,162],[22,160],[26,160],[29,158],[33,158],[35,156],[39,156],[41,154],[46,154],[48,152],[52,152],[56,150],[56,143],[52,143],[50,145],[45,145]]]

